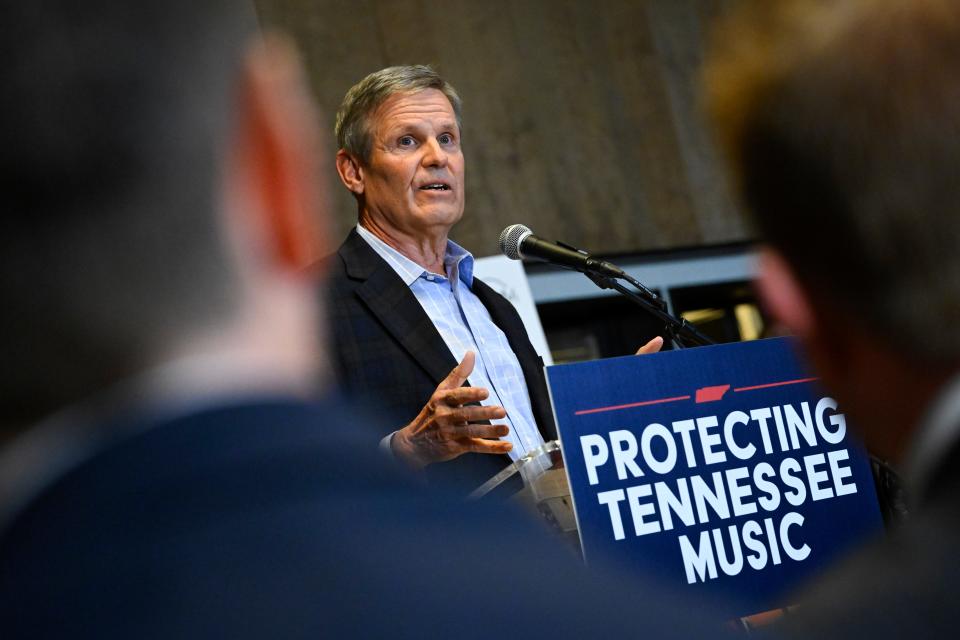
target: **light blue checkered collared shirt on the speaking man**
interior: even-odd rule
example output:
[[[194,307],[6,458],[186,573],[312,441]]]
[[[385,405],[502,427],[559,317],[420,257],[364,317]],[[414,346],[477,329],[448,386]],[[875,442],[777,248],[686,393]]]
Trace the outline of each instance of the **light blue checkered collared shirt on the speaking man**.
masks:
[[[357,225],[357,232],[410,287],[457,362],[463,360],[467,351],[476,354],[476,364],[467,382],[490,392],[481,404],[506,410],[507,417],[494,422],[510,427],[510,432],[501,438],[513,443],[510,458],[517,460],[542,445],[520,362],[503,331],[493,323],[490,312],[470,290],[473,255],[448,240],[443,276],[430,273],[361,225]],[[423,401],[426,403],[427,398]]]

